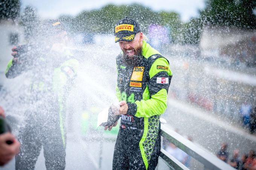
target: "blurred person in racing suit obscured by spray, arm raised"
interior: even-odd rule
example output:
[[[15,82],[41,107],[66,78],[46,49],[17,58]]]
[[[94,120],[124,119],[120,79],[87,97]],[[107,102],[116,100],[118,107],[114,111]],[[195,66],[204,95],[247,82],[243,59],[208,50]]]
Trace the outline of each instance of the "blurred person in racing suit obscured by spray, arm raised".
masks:
[[[53,23],[49,29],[55,32],[55,42],[49,49],[44,50],[44,53],[37,53],[38,50],[35,49],[44,47],[23,45],[12,48],[14,58],[5,72],[7,78],[17,77],[24,71],[32,72],[30,95],[27,99],[30,103],[29,109],[25,113],[18,136],[21,148],[15,159],[16,170],[34,169],[42,146],[46,169],[65,169],[65,103],[79,63],[78,60],[72,59],[72,54],[64,47],[65,31],[55,27],[62,27],[61,23]],[[51,37],[52,34],[48,36]],[[44,45],[49,44],[50,40]],[[21,51],[36,53],[25,53],[25,56],[21,57]]]

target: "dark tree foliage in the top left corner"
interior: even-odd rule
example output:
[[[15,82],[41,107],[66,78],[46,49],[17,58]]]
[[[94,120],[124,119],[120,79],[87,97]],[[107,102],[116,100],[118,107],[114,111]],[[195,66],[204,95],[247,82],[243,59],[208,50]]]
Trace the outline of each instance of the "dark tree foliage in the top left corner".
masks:
[[[15,19],[20,14],[20,0],[1,0],[0,20]]]

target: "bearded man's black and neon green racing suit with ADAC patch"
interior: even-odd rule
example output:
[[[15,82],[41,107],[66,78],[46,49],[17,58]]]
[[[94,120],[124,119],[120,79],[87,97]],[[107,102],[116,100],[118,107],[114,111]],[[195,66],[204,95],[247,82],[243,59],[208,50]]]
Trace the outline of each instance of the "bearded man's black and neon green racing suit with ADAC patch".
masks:
[[[166,110],[172,72],[168,60],[145,41],[138,58],[130,65],[122,54],[116,58],[116,94],[127,102],[128,111],[121,116],[113,170],[154,170],[158,163],[159,119]]]

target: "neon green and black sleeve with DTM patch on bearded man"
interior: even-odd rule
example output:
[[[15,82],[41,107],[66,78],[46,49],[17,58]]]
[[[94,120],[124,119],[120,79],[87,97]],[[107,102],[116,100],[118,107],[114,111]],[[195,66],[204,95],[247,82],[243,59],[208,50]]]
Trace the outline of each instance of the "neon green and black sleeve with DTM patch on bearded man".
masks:
[[[151,117],[163,114],[167,107],[168,89],[171,82],[172,72],[165,58],[155,60],[149,70],[148,87],[143,93],[143,99],[135,104],[128,104],[129,110],[136,110],[136,117]],[[165,83],[159,83],[159,79],[166,78]],[[168,81],[167,81],[168,80]],[[129,107],[131,107],[129,109]]]

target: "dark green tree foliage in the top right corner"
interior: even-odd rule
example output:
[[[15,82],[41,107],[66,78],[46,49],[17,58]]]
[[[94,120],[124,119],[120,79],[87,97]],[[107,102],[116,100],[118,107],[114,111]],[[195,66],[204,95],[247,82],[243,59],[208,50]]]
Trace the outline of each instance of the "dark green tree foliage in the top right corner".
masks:
[[[206,8],[183,26],[184,43],[198,44],[205,26],[256,29],[256,0],[207,0]]]

